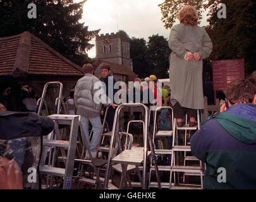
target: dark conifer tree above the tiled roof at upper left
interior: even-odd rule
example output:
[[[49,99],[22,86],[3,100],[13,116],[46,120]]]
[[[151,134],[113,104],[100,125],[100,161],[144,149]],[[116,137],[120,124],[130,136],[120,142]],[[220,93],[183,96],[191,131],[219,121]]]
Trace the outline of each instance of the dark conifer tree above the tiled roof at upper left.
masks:
[[[86,1],[86,0],[85,0]],[[88,31],[83,23],[82,6],[85,3],[73,0],[20,0],[0,1],[0,37],[28,31],[49,44],[76,64],[88,62],[86,50],[99,30]],[[37,6],[37,18],[30,19],[28,4]]]

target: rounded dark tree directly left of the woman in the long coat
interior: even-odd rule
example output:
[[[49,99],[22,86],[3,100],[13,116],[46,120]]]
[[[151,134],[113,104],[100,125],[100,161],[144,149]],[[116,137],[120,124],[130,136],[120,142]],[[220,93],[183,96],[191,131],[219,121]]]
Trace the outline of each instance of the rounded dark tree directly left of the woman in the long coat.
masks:
[[[150,73],[155,74],[157,78],[168,78],[169,54],[171,54],[168,40],[158,34],[152,35],[147,46]]]

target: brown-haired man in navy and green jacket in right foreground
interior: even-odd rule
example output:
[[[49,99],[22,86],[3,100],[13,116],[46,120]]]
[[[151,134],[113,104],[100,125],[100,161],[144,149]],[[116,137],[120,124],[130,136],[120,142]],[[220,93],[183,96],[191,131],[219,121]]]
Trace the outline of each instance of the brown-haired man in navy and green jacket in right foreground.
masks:
[[[192,153],[205,162],[205,189],[256,189],[255,85],[229,83],[221,113],[190,140]]]

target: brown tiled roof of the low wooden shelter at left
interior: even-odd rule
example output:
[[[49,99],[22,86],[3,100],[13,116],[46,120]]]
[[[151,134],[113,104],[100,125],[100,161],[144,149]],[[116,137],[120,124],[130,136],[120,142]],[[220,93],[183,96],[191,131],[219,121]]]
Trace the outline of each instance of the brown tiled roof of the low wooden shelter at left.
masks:
[[[29,32],[0,38],[0,76],[83,76],[82,68]]]

